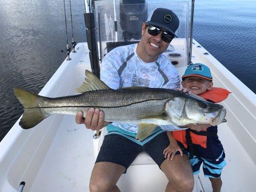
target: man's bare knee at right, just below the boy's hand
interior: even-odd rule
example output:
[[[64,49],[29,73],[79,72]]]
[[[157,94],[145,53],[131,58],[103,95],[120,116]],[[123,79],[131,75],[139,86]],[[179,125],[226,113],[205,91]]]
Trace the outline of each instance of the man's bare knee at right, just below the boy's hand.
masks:
[[[194,177],[188,156],[175,155],[173,160],[164,160],[160,168],[169,180],[166,192],[192,192]]]

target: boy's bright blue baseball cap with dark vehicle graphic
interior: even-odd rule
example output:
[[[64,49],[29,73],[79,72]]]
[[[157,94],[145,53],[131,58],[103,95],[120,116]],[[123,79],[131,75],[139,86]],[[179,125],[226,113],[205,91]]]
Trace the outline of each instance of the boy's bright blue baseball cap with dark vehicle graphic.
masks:
[[[204,79],[212,81],[210,69],[202,63],[195,63],[190,65],[183,74],[182,79],[190,76],[202,77]]]

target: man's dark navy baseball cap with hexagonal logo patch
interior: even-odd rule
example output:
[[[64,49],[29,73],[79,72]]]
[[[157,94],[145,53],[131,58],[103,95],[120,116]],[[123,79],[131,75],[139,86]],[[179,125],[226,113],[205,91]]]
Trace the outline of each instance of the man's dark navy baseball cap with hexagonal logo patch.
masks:
[[[180,20],[178,16],[171,10],[157,8],[148,16],[146,24],[161,27],[169,31],[172,35],[176,36],[175,31],[179,27]]]

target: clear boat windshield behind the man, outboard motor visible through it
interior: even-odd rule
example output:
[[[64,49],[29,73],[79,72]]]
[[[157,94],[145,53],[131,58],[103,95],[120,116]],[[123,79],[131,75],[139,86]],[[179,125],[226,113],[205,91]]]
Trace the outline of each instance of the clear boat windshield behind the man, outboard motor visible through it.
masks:
[[[127,1],[127,0],[126,0]],[[176,36],[167,50],[163,53],[175,66],[184,66],[188,63],[189,55],[189,27],[188,2],[147,3],[145,0],[136,0],[136,4],[125,4],[125,0],[113,4],[113,1],[95,1],[96,21],[100,59],[115,47],[139,42],[142,23],[156,8],[172,10],[180,20]],[[134,3],[132,2],[132,3]],[[131,3],[131,1],[129,1]]]

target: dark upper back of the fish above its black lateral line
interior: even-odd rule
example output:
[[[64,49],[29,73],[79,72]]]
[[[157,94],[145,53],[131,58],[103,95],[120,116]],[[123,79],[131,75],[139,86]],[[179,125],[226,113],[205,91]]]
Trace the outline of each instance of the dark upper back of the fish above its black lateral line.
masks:
[[[38,101],[41,108],[47,107],[121,107],[148,100],[162,100],[180,95],[171,89],[140,88],[132,90],[98,90],[81,95],[43,98]],[[183,94],[184,96],[184,94]]]

